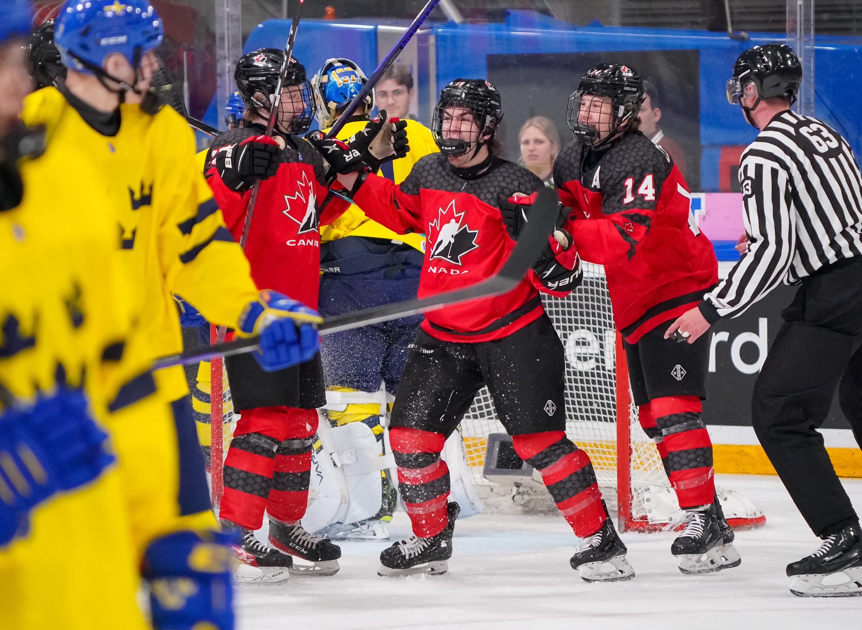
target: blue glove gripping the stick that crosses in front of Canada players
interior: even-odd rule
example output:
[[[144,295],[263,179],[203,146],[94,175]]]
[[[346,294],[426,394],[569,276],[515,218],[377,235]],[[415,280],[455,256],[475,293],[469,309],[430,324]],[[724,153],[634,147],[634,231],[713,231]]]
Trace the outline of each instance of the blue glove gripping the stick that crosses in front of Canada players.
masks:
[[[284,293],[261,291],[240,315],[238,337],[260,335],[254,353],[261,368],[273,372],[309,361],[320,349],[315,324],[322,318],[313,309]]]

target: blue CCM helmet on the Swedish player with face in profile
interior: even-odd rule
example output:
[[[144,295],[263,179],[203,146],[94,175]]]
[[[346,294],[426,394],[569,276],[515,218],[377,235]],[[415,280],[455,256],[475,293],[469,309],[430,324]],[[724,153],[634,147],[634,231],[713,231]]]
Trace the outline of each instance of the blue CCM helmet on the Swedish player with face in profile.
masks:
[[[121,53],[137,69],[164,34],[161,18],[147,0],[66,0],[57,15],[54,41],[67,68],[103,76],[109,54]]]

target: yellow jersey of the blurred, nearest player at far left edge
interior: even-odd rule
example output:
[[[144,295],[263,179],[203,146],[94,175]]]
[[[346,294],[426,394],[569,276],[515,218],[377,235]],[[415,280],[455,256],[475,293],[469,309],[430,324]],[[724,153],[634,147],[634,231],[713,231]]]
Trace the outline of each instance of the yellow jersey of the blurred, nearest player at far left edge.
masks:
[[[128,283],[116,276],[116,219],[103,177],[88,164],[70,169],[58,149],[49,143],[22,164],[22,204],[0,213],[0,322],[15,324],[3,325],[0,345],[18,350],[0,358],[0,382],[29,398],[37,388],[50,392],[58,374],[76,386],[83,378],[103,419],[119,385],[112,357],[128,332]],[[31,511],[29,533],[0,550],[9,627],[147,627],[135,602],[140,578],[124,492],[112,466]]]

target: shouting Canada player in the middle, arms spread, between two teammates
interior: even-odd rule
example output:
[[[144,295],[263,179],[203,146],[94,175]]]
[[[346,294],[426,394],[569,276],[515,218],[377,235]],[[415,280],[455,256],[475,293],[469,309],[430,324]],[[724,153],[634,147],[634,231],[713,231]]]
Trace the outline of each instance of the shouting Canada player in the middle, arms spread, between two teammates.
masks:
[[[369,217],[399,233],[428,235],[420,298],[495,274],[544,186],[497,157],[502,117],[490,83],[458,79],[442,90],[434,110],[440,153],[422,157],[399,185],[368,173],[340,176]],[[447,571],[459,506],[447,502],[449,472],[440,449],[482,386],[515,450],[540,470],[575,534],[588,537],[603,523],[612,530],[590,458],[565,436],[563,346],[539,296],[563,296],[581,281],[578,254],[565,232],[559,237],[549,237],[540,261],[509,293],[426,313],[390,423],[415,535],[381,553],[381,575]],[[622,542],[616,551],[615,578],[633,578]]]

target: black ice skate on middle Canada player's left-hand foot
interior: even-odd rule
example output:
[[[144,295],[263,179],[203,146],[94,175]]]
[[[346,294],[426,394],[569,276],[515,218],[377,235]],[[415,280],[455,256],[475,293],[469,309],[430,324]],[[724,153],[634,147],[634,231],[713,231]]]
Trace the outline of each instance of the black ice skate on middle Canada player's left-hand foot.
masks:
[[[458,503],[447,505],[449,524],[440,534],[421,538],[410,536],[387,547],[380,554],[378,575],[398,576],[428,573],[442,575],[449,570],[447,560],[452,558],[452,536],[455,519],[461,511]]]

